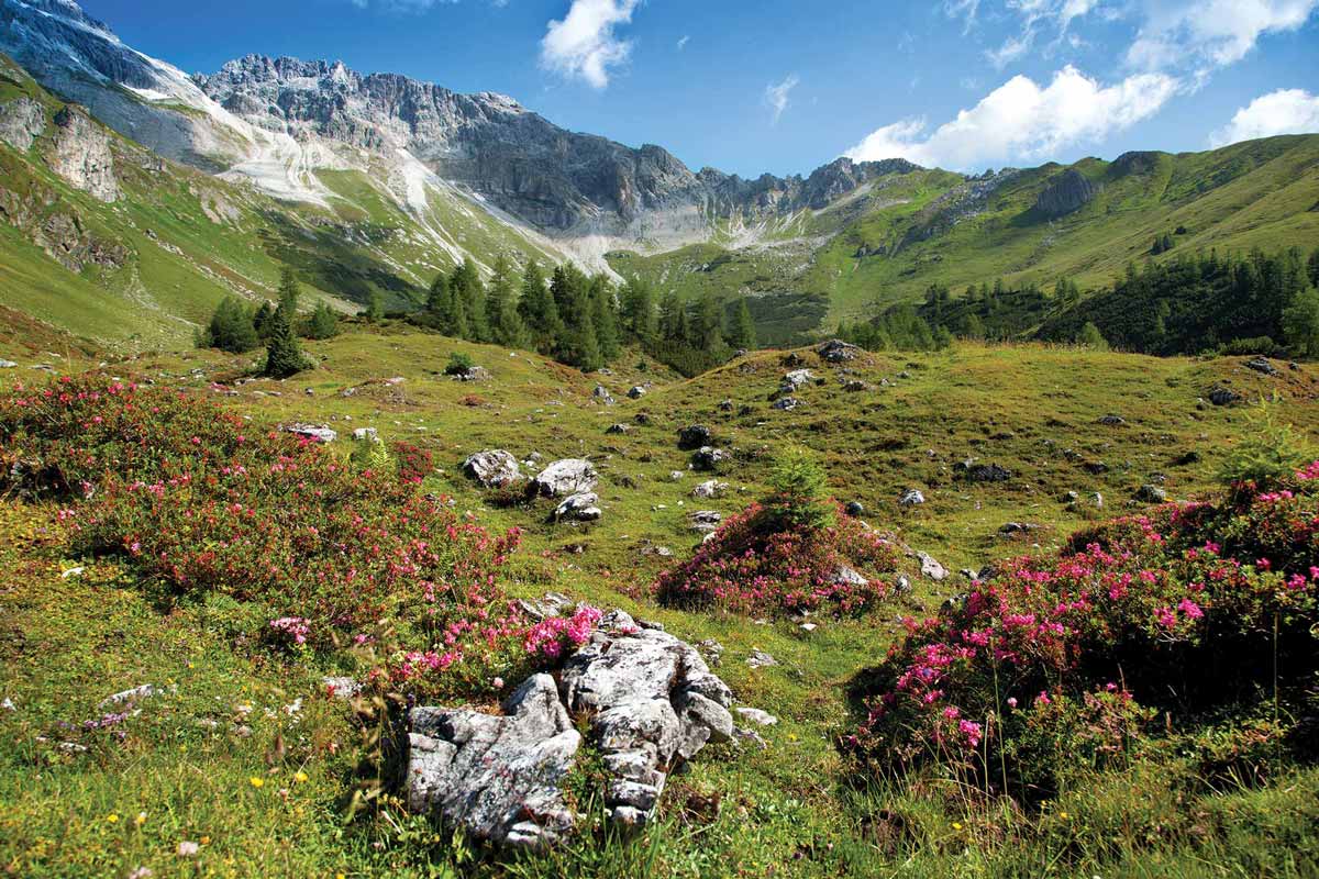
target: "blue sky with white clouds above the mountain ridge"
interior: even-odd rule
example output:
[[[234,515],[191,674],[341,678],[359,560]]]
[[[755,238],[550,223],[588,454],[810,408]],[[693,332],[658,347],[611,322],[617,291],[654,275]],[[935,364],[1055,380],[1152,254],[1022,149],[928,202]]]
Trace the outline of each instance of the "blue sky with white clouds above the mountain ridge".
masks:
[[[1319,0],[84,0],[187,71],[342,59],[692,167],[979,171],[1319,130]]]

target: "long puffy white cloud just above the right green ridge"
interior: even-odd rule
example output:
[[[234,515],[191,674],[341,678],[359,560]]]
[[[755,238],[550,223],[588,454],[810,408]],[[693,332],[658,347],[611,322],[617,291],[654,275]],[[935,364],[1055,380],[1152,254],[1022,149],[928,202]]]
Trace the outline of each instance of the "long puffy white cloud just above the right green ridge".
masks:
[[[1043,88],[1026,76],[1013,76],[933,132],[925,119],[885,125],[845,156],[857,161],[906,158],[956,170],[1053,158],[1067,146],[1103,141],[1148,119],[1179,87],[1177,79],[1157,72],[1103,86],[1068,65]]]

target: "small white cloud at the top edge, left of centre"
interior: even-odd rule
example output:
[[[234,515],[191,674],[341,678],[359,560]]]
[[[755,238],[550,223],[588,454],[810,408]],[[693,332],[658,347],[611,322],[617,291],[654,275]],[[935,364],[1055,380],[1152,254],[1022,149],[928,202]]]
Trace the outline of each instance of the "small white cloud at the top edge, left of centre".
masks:
[[[624,63],[632,43],[615,28],[632,21],[641,0],[572,0],[561,21],[551,21],[541,40],[541,65],[592,88],[609,84],[609,69]]]

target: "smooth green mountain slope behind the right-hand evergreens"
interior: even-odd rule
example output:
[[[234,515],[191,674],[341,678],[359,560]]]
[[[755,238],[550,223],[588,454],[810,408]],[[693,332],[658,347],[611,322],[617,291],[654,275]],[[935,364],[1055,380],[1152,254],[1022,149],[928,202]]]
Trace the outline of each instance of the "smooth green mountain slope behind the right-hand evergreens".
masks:
[[[929,171],[897,178],[892,188],[872,192],[869,210],[859,217],[831,217],[831,211],[816,216],[815,235],[838,235],[814,254],[783,258],[782,248],[725,252],[702,246],[652,257],[615,254],[611,262],[623,274],[648,278],[661,291],[673,289],[685,295],[827,294],[830,318],[836,319],[871,314],[874,303],[914,300],[931,283],[959,293],[968,283],[997,277],[1010,283],[1051,285],[1068,277],[1083,287],[1103,285],[1128,261],[1145,258],[1155,235],[1178,225],[1188,231],[1178,239],[1183,250],[1275,250],[1319,241],[1319,212],[1314,211],[1319,204],[1319,136],[1149,156],[1149,167],[1129,171],[1100,159],[1078,162],[1075,167],[1101,191],[1076,213],[1055,221],[1031,211],[1041,188],[1063,170],[1046,165],[1001,186],[973,219],[939,227],[925,240],[909,239],[929,221],[922,208],[958,181]],[[857,258],[861,246],[884,254]]]

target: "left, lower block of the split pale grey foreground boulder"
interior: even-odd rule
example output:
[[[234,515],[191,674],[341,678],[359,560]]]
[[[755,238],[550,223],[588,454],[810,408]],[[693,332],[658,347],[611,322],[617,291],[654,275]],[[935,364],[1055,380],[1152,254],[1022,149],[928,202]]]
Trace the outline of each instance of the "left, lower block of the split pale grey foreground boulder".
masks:
[[[562,781],[582,735],[549,675],[534,675],[504,702],[504,716],[414,708],[408,735],[408,808],[438,812],[471,836],[543,849],[575,816]]]

